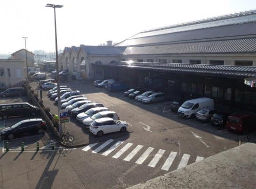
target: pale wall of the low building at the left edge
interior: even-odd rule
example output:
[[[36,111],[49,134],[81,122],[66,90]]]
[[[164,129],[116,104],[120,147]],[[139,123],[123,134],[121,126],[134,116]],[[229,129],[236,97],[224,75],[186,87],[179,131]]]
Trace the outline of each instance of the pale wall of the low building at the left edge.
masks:
[[[26,60],[0,60],[0,69],[4,69],[4,77],[0,77],[0,88],[6,88],[24,81],[26,73]],[[10,69],[10,77],[8,69]],[[20,77],[19,77],[20,76]]]

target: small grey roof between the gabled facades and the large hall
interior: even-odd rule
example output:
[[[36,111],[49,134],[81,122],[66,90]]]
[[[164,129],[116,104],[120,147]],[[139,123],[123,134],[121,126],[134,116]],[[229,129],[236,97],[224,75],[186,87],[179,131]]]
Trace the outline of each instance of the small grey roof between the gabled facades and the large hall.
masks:
[[[115,46],[81,45],[81,47],[88,54],[100,54],[100,55],[120,55],[126,49],[126,47],[115,47]]]

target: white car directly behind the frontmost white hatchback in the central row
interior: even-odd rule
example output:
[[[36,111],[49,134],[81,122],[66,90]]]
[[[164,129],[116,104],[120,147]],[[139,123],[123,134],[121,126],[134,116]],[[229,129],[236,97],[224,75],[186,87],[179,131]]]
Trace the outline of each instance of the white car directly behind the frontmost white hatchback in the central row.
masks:
[[[112,118],[113,120],[119,120],[119,116],[116,112],[113,111],[104,111],[94,114],[93,116],[86,118],[82,121],[82,126],[85,128],[89,128],[91,125],[91,122],[93,120],[97,120],[100,118]]]

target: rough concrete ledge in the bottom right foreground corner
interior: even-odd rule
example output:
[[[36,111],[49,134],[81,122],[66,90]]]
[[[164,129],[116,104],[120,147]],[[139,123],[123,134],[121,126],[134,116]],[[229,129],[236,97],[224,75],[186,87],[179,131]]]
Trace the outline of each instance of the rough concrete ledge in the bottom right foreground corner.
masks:
[[[255,149],[246,143],[128,189],[255,189]]]

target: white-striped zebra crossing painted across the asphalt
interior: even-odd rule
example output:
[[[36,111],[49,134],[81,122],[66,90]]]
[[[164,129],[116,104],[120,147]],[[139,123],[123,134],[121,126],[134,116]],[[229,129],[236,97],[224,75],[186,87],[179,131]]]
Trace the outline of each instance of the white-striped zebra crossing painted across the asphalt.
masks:
[[[121,156],[127,152],[128,150],[131,150],[130,153],[128,155],[126,155],[125,157],[123,157],[123,161],[126,161],[126,162],[129,162],[131,161],[135,155],[137,155],[139,152],[143,152],[142,155],[140,155],[140,157],[135,161],[135,163],[137,164],[143,164],[147,158],[151,158],[151,161],[148,163],[148,167],[152,167],[152,168],[155,168],[155,166],[158,164],[158,162],[160,161],[160,159],[166,155],[166,150],[164,149],[159,149],[157,151],[157,153],[153,156],[151,155],[153,153],[154,150],[156,150],[155,148],[153,147],[145,147],[143,145],[134,145],[133,143],[127,143],[123,146],[124,144],[124,141],[115,141],[114,144],[112,144],[110,147],[108,147],[111,143],[113,143],[114,140],[113,139],[109,139],[107,141],[105,141],[104,143],[102,143],[100,146],[96,147],[95,149],[92,149],[94,146],[97,146],[98,144],[100,144],[99,142],[98,143],[93,143],[93,144],[90,144],[86,147],[84,147],[82,149],[82,151],[89,151],[91,150],[91,153],[94,153],[94,154],[98,154],[100,153],[103,149],[106,148],[106,150],[101,154],[103,156],[108,156],[110,155],[111,153],[113,153],[114,150],[119,150],[114,154],[112,155],[112,158],[115,158],[115,159],[118,159],[118,158],[121,158]],[[146,149],[146,150],[145,150]],[[168,157],[166,158],[165,160],[165,163],[163,164],[162,166],[162,170],[164,171],[169,171],[169,169],[171,168],[175,158],[177,158],[177,155],[178,153],[177,152],[171,152]],[[152,158],[153,157],[153,158]],[[183,168],[184,166],[186,166],[189,162],[189,159],[190,159],[190,155],[188,154],[183,154],[178,166],[177,166],[177,169],[181,169]],[[203,160],[204,158],[201,157],[201,156],[197,156],[196,157],[196,160],[195,160],[195,163],[197,162],[200,162],[201,160]]]

